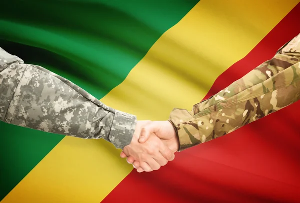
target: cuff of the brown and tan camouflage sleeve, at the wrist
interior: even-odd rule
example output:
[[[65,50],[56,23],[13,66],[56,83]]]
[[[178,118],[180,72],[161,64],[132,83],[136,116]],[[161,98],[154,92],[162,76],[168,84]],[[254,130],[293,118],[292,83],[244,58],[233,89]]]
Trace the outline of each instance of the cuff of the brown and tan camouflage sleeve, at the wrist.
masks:
[[[173,109],[169,121],[177,130],[179,152],[201,143],[197,122],[187,110]]]

